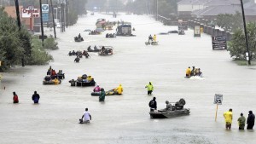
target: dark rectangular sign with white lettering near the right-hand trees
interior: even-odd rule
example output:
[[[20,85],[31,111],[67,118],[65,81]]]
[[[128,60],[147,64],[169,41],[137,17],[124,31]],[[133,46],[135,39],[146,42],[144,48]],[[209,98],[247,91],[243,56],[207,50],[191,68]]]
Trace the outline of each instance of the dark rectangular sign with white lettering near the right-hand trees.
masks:
[[[227,40],[225,36],[212,37],[212,49],[227,49]]]

